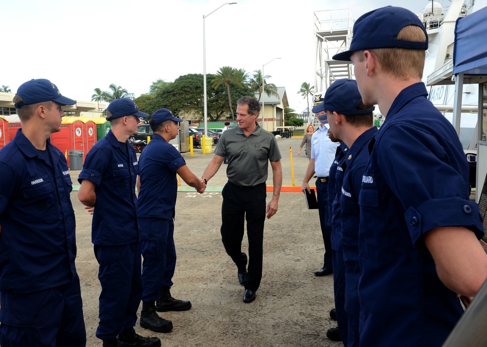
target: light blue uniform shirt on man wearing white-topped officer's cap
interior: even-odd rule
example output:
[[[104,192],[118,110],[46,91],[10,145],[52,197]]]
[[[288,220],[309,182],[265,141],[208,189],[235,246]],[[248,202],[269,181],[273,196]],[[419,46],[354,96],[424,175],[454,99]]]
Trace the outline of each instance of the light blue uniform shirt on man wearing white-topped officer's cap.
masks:
[[[328,177],[330,167],[337,153],[338,142],[332,142],[327,135],[328,124],[318,126],[311,137],[311,159],[315,159],[315,173],[318,177]]]

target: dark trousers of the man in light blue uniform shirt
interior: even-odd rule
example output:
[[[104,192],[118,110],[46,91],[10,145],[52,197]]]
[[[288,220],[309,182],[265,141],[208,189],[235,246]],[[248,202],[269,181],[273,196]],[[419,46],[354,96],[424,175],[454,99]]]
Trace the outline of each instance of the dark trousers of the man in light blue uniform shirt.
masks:
[[[333,269],[333,251],[332,251],[332,227],[328,224],[328,182],[316,180],[316,194],[318,200],[319,225],[323,235],[323,244],[325,245],[325,254],[323,255],[323,267]]]

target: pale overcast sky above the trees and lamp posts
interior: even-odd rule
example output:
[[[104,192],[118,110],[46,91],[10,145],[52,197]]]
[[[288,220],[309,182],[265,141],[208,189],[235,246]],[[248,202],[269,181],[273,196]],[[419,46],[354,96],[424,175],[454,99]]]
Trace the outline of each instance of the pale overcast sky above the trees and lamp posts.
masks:
[[[302,82],[315,84],[313,12],[350,8],[352,19],[394,4],[419,13],[428,0],[236,0],[206,17],[206,73],[222,66],[264,67],[285,87],[290,107],[303,109]],[[450,1],[438,0],[444,7]],[[0,85],[13,92],[47,78],[61,93],[90,100],[111,83],[135,94],[152,82],[203,73],[203,15],[225,0],[3,1]],[[339,3],[339,5],[337,5]],[[210,86],[208,86],[210,87]]]

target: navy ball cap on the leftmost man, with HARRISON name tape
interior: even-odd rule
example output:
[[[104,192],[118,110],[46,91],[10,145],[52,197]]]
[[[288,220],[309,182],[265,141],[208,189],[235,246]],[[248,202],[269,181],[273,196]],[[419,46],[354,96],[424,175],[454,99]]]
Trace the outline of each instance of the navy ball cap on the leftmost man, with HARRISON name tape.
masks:
[[[44,78],[30,80],[22,83],[17,89],[17,95],[22,98],[23,102],[15,104],[15,108],[24,105],[42,103],[44,101],[55,101],[61,105],[74,105],[76,100],[66,98],[61,95],[54,83]]]

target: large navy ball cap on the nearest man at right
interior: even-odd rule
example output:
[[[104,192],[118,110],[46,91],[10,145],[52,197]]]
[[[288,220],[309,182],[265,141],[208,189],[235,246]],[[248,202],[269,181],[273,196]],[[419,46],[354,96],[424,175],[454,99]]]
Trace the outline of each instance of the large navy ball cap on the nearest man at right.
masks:
[[[423,29],[426,41],[413,42],[398,40],[399,32],[408,25]],[[360,16],[354,24],[354,36],[350,50],[337,53],[335,60],[350,61],[354,51],[373,50],[375,48],[406,48],[410,50],[428,49],[426,28],[413,12],[402,7],[386,6]]]

